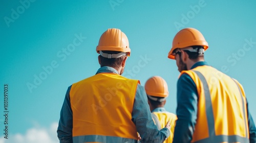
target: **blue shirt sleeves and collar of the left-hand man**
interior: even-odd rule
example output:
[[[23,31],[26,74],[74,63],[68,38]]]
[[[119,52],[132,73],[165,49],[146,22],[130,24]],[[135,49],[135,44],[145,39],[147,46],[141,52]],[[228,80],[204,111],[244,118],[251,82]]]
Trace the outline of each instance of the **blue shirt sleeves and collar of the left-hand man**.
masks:
[[[100,67],[96,74],[99,73],[114,73],[118,74],[115,68],[109,66]],[[60,120],[58,125],[58,138],[60,142],[73,142],[72,129],[73,129],[73,113],[70,105],[70,89],[68,88],[65,100],[60,111]],[[132,111],[132,121],[136,126],[138,133],[140,133],[140,142],[162,142],[170,135],[167,128],[160,131],[152,120],[150,107],[147,104],[146,92],[143,86],[137,85],[135,100]]]

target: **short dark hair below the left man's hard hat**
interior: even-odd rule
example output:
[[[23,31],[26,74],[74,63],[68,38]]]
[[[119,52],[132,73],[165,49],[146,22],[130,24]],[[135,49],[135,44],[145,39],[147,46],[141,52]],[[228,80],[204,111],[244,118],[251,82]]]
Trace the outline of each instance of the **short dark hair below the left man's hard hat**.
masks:
[[[118,54],[118,53],[120,53],[118,51],[102,51],[102,52],[107,53],[107,54]],[[110,59],[102,57],[101,55],[99,57],[100,57],[100,67],[110,66],[110,67],[113,67],[113,68],[118,68],[118,67],[121,66],[122,61],[123,61],[125,56],[121,56],[119,58],[110,58]]]

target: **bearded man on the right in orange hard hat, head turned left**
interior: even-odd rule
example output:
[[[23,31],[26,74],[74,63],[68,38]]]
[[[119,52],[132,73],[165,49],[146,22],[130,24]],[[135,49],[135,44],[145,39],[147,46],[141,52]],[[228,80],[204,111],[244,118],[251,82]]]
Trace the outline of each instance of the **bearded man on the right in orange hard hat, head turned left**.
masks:
[[[168,58],[180,71],[173,142],[256,142],[242,85],[204,61],[208,43],[194,28],[179,31]]]

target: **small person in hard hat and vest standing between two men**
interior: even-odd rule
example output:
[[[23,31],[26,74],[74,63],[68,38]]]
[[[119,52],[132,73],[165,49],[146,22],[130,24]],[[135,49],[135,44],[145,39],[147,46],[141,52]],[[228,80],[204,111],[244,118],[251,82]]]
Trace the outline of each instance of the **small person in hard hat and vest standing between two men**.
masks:
[[[177,116],[174,113],[167,112],[164,108],[166,98],[169,95],[166,81],[159,76],[151,77],[145,83],[145,90],[152,118],[158,126],[158,129],[164,128],[166,123],[170,121],[170,136],[164,142],[173,142],[174,127]]]

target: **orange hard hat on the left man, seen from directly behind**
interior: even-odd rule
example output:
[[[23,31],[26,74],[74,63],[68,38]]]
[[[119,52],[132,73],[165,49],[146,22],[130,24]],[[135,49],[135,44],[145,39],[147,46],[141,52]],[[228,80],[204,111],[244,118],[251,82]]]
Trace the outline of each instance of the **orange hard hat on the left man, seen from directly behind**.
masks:
[[[131,53],[128,38],[120,29],[115,28],[108,29],[101,35],[96,51],[98,54],[102,54],[100,51],[117,51],[126,53],[126,56],[130,56]]]

